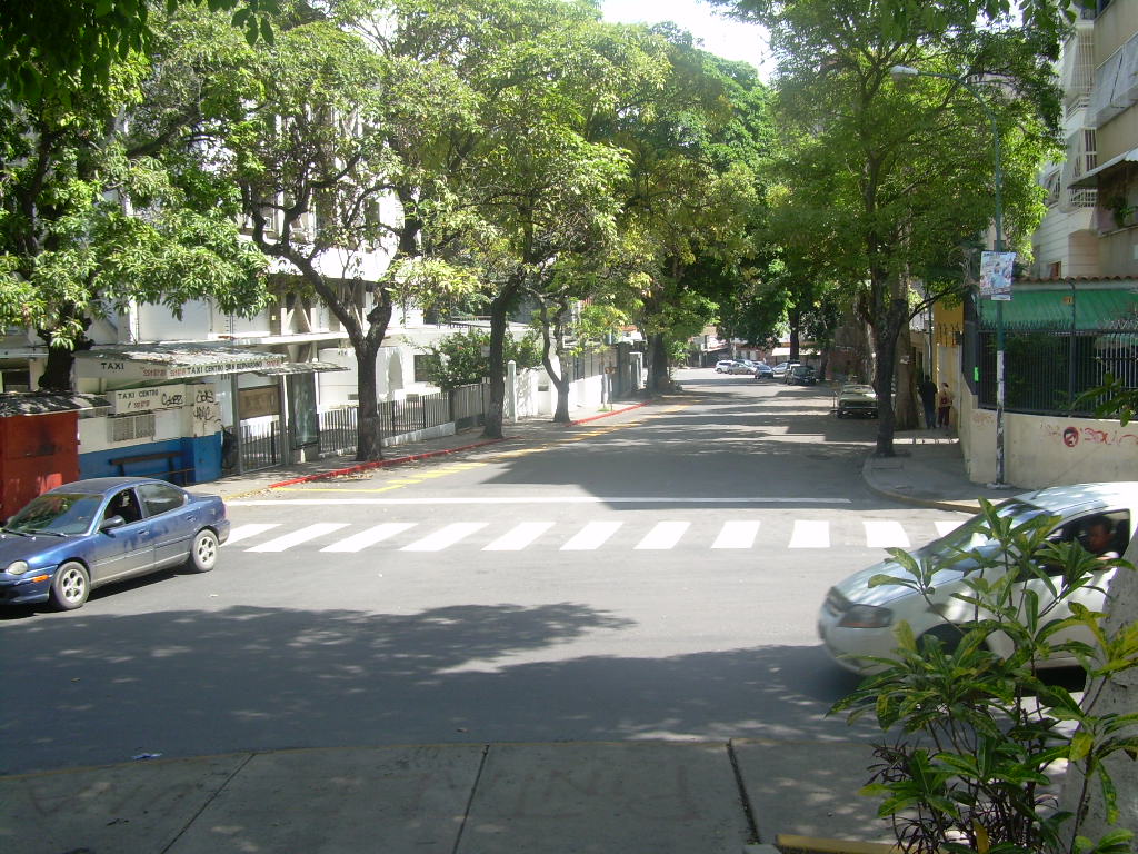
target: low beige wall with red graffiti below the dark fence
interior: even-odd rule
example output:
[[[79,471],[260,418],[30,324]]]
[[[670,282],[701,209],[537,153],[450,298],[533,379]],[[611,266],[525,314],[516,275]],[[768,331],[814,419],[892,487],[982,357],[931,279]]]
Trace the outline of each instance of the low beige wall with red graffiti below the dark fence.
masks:
[[[996,412],[957,395],[959,434],[973,483],[996,479]],[[1138,422],[1004,413],[1004,466],[1009,484],[1034,490],[1071,483],[1138,481]]]

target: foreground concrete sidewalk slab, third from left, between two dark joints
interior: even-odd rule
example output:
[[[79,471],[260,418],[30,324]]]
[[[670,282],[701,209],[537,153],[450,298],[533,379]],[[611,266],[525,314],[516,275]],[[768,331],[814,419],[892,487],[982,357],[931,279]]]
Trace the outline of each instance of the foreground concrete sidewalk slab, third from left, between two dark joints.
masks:
[[[739,854],[725,744],[492,745],[456,854]]]

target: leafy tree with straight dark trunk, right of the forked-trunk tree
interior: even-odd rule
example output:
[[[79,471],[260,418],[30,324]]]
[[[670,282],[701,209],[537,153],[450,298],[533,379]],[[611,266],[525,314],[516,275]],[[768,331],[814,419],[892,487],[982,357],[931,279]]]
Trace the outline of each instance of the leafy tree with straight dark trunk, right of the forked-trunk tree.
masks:
[[[496,22],[495,61],[464,76],[483,106],[457,190],[481,222],[479,239],[465,246],[490,315],[487,436],[502,432],[509,317],[527,293],[558,290],[558,269],[615,233],[626,158],[589,129],[638,61],[591,3],[527,0],[510,11]]]

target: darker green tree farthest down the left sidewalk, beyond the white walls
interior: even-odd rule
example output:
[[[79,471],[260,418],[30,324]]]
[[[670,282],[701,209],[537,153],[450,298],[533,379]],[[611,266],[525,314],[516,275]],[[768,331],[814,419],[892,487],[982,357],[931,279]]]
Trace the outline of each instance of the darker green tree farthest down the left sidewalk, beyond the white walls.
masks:
[[[753,68],[695,49],[687,34],[665,32],[668,79],[633,91],[612,128],[632,158],[624,265],[652,389],[667,387],[671,345],[682,346],[715,318],[717,305],[707,296],[712,282],[721,290],[743,278],[764,126]]]

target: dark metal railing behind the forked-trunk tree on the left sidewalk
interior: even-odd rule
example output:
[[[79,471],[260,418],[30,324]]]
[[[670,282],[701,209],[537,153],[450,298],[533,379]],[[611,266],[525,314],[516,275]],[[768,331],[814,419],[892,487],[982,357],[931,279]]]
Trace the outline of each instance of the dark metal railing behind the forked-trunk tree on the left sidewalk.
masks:
[[[483,424],[484,385],[462,386],[453,392],[422,394],[406,401],[379,404],[380,430],[385,437],[426,430],[451,421],[461,429]],[[320,453],[351,453],[357,443],[358,408],[340,407],[320,413]]]

